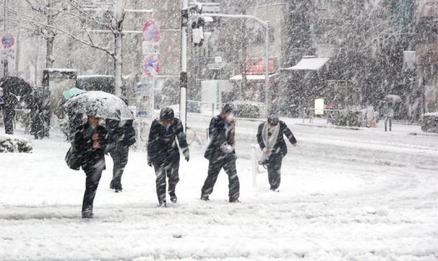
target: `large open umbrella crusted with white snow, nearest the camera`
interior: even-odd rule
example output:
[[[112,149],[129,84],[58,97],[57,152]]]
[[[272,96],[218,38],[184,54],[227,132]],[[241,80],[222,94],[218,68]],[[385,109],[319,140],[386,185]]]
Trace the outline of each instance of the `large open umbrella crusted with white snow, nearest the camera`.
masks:
[[[100,90],[76,95],[63,106],[73,113],[83,113],[97,118],[133,120],[133,113],[120,97]]]

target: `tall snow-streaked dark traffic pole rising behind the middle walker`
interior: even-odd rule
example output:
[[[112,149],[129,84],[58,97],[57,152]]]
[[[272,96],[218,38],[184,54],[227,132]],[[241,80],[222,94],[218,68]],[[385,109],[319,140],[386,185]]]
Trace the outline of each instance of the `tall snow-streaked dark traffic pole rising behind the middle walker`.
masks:
[[[179,119],[187,127],[187,28],[188,28],[188,0],[182,0],[181,6],[181,75],[179,77]]]

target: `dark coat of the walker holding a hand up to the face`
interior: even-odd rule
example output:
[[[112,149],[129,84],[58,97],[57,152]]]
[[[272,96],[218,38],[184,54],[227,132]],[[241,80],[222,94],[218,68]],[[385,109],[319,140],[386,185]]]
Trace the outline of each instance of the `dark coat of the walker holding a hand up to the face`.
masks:
[[[210,142],[204,154],[206,159],[209,161],[216,161],[220,159],[236,158],[236,151],[234,150],[234,126],[229,125],[229,123],[222,120],[220,116],[211,119],[209,125],[209,139]],[[230,153],[223,152],[220,149],[220,146],[224,143],[231,145],[233,151]]]

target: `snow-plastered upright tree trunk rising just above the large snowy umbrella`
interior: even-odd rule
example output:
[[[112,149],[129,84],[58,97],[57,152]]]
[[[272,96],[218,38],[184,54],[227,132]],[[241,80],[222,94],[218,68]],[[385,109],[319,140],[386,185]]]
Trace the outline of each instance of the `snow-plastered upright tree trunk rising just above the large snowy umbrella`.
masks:
[[[122,74],[123,74],[123,0],[116,0],[115,3],[115,29],[114,35],[114,87],[115,95],[122,96]]]

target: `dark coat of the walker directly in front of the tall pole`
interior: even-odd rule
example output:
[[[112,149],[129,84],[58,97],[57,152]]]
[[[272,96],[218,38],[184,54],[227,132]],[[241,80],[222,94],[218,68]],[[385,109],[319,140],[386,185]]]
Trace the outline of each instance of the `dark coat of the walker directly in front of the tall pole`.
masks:
[[[169,127],[164,127],[158,119],[154,120],[147,141],[147,161],[153,164],[179,161],[177,140],[184,155],[188,156],[188,144],[181,121],[175,118]]]

